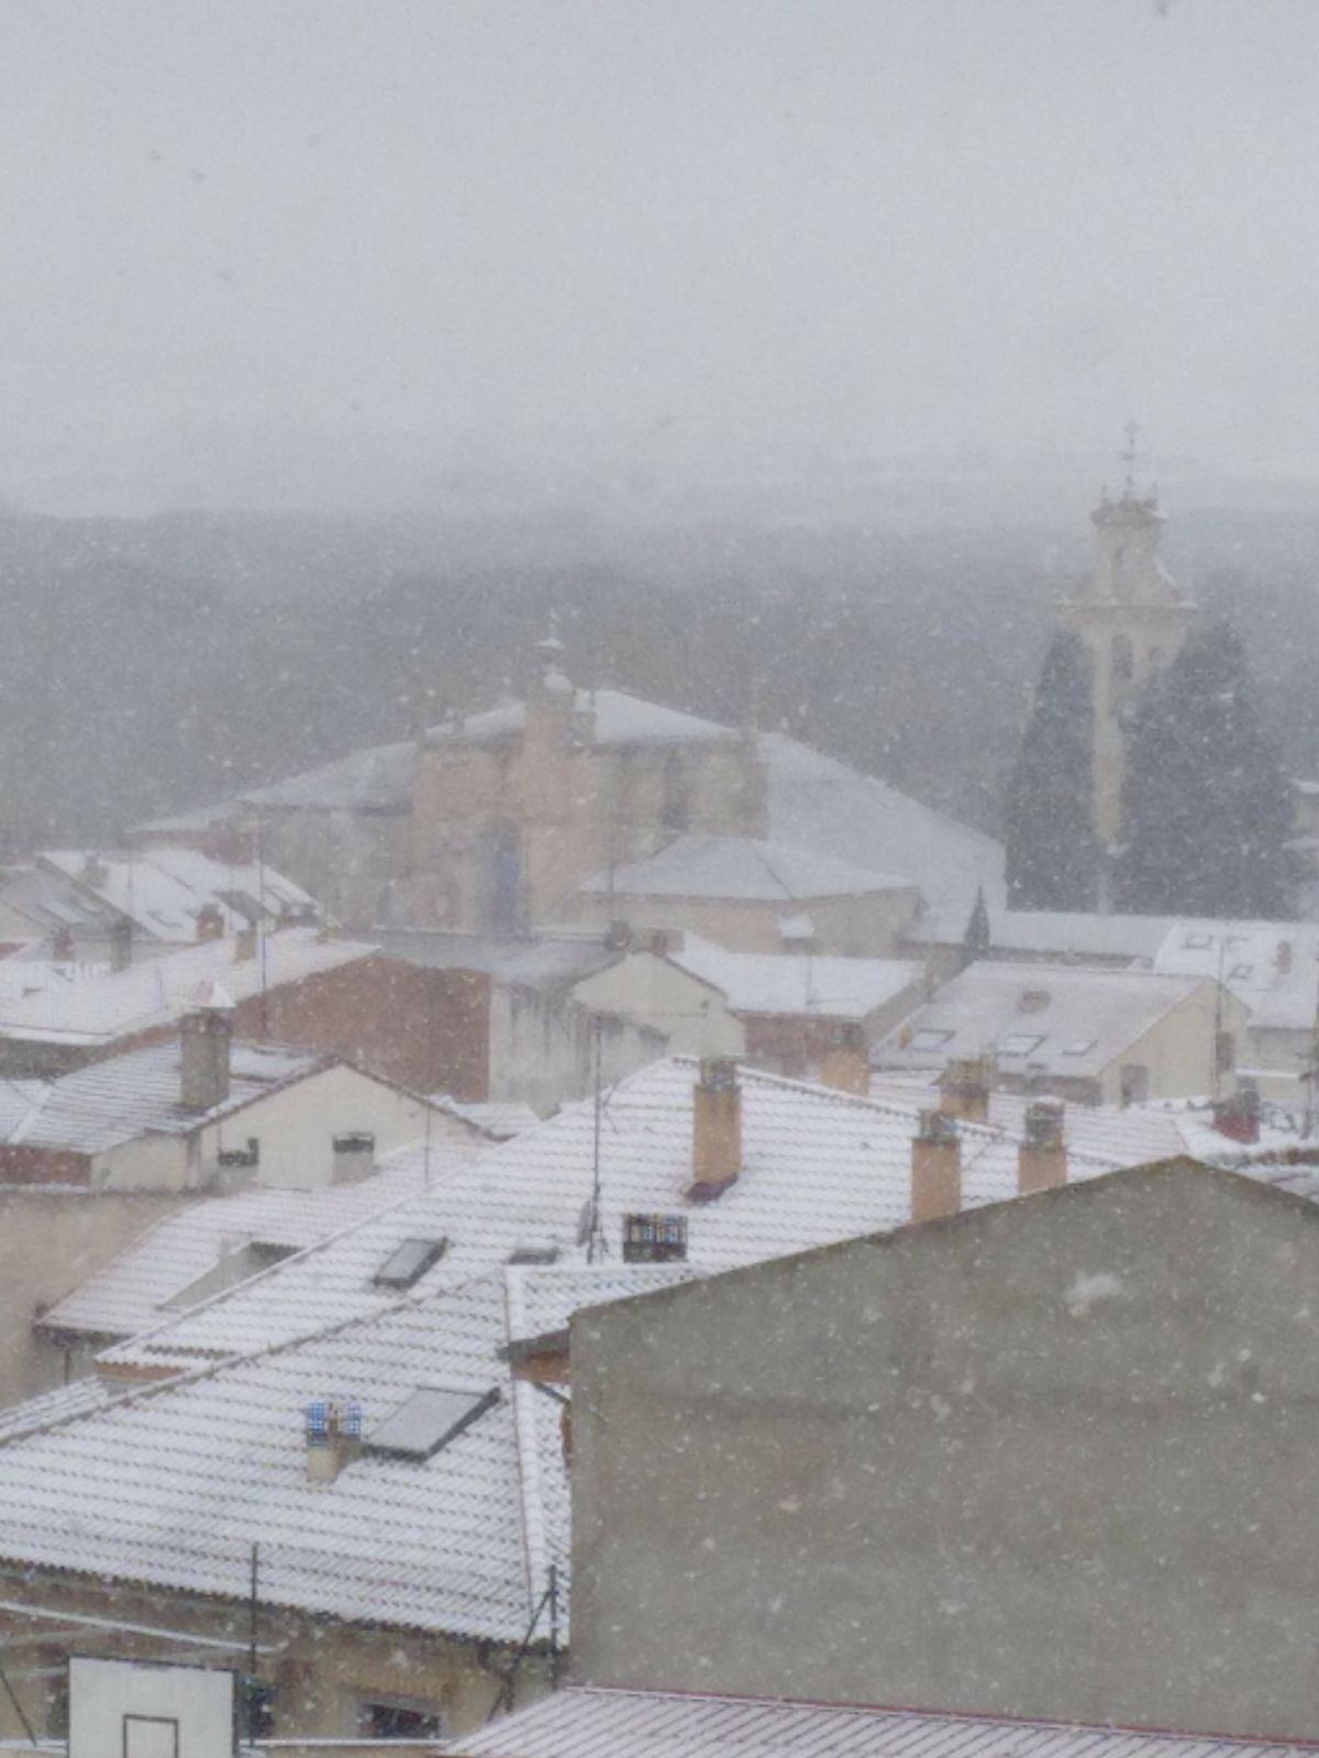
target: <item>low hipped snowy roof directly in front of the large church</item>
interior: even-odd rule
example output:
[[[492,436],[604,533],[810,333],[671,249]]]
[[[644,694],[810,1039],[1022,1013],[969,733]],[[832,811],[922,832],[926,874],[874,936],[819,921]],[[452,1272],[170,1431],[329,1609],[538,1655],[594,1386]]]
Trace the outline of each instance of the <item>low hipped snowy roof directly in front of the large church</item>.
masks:
[[[911,886],[851,861],[786,842],[753,837],[675,837],[645,860],[598,872],[584,891],[623,897],[711,897],[788,904],[804,898],[869,897]]]

